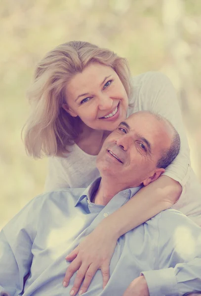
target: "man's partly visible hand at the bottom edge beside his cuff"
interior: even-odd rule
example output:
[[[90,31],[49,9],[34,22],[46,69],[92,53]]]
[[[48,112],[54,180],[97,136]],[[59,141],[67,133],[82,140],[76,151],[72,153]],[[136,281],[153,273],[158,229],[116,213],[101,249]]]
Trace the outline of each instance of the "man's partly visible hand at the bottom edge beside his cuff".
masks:
[[[141,275],[134,279],[125,290],[123,296],[149,296],[149,289],[145,277]]]

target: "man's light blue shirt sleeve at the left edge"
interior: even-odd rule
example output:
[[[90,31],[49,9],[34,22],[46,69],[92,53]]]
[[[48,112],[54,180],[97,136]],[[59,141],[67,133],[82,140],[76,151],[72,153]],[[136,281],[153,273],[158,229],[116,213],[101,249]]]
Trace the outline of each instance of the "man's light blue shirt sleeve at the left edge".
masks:
[[[32,244],[38,211],[28,203],[0,232],[0,295],[16,296],[23,291],[24,277],[32,264]]]

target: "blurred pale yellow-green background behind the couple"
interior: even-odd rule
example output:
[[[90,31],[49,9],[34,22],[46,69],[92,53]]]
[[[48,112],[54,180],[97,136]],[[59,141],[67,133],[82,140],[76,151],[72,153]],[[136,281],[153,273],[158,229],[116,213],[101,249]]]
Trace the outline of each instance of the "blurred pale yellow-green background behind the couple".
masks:
[[[201,180],[201,0],[1,0],[0,228],[43,190],[47,159],[28,157],[21,141],[26,91],[40,58],[69,40],[114,50],[133,75],[170,77]]]

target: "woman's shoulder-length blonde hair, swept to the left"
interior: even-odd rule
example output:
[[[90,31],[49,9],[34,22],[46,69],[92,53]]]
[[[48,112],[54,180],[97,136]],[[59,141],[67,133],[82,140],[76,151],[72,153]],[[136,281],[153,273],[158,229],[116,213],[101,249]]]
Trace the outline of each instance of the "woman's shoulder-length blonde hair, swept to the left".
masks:
[[[89,42],[70,41],[49,51],[37,65],[28,92],[31,114],[23,127],[26,151],[35,158],[63,156],[80,134],[80,118],[62,108],[68,81],[93,62],[110,66],[119,75],[128,98],[130,72],[126,59]]]

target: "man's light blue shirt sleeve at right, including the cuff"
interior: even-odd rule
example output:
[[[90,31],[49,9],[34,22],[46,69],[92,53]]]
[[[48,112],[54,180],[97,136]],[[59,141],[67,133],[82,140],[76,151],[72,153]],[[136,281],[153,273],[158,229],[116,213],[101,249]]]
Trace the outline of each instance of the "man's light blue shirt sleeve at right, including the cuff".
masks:
[[[201,292],[201,227],[180,212],[161,213],[157,270],[145,271],[150,296]]]

